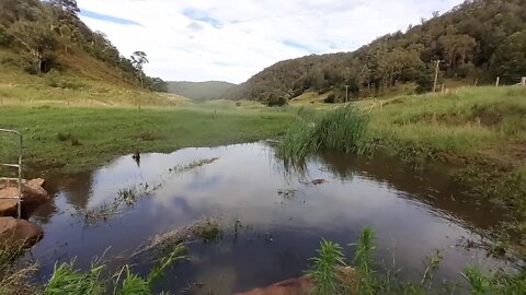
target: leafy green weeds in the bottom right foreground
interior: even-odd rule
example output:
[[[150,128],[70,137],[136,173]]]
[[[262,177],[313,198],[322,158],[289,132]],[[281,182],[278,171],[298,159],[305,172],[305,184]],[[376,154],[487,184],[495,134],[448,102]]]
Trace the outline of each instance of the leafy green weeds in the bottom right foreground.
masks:
[[[357,243],[352,246],[354,271],[342,272],[342,267],[347,264],[342,247],[322,239],[317,250],[318,256],[310,259],[313,263],[308,273],[315,282],[311,294],[518,295],[524,294],[526,290],[525,269],[514,273],[503,271],[484,273],[476,267],[466,266],[459,273],[467,282],[466,287],[460,287],[459,282],[455,281],[442,281],[438,284],[437,280],[434,280],[434,273],[442,261],[439,251],[430,255],[418,280],[402,280],[398,275],[401,269],[397,266],[374,260],[377,249],[376,237],[374,229],[368,227],[362,231]]]

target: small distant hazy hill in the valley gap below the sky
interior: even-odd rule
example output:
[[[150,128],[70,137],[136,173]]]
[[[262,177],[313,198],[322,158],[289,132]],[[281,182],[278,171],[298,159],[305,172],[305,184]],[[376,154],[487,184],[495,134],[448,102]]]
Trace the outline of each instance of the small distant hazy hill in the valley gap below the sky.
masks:
[[[219,99],[228,91],[236,87],[236,84],[222,81],[187,82],[172,81],[167,82],[168,92],[175,93],[196,101]]]

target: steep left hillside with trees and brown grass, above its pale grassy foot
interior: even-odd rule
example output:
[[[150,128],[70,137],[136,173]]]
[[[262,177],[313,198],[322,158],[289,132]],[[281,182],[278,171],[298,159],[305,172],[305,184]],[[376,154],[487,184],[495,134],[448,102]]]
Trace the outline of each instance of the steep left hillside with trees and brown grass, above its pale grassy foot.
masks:
[[[114,84],[165,88],[162,80],[144,74],[145,52],[123,57],[103,33],[80,21],[79,12],[75,0],[0,0],[0,66],[18,67],[27,74],[67,72]]]

